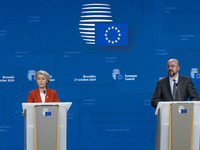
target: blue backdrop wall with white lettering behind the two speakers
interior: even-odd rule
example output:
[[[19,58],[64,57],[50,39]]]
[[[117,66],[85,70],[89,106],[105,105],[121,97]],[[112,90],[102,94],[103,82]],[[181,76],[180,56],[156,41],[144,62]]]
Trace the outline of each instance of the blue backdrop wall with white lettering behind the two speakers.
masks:
[[[81,29],[83,11],[97,6],[107,7],[109,23],[128,24],[128,46],[96,45],[95,21],[92,40],[83,37],[90,31]],[[177,58],[180,74],[200,91],[199,7],[199,0],[1,1],[0,149],[24,148],[21,104],[37,88],[35,71],[45,70],[49,88],[73,103],[68,150],[153,150],[150,101],[167,60]]]

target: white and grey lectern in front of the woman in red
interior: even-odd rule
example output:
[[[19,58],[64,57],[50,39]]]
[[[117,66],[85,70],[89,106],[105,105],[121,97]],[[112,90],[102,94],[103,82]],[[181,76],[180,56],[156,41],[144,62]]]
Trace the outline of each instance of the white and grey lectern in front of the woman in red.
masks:
[[[25,150],[66,150],[67,103],[22,103]]]

